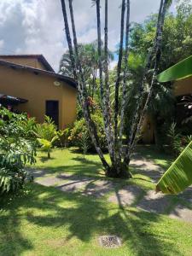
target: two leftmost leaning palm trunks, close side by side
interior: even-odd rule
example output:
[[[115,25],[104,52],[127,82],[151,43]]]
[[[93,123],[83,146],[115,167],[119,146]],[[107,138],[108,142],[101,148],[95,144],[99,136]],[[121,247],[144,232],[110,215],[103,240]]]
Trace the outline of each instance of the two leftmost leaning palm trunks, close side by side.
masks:
[[[66,28],[66,35],[67,35],[67,44],[68,48],[70,51],[70,56],[72,60],[76,60],[74,62],[73,68],[75,73],[75,78],[77,78],[78,81],[78,90],[79,90],[79,100],[81,102],[82,108],[84,109],[84,119],[88,125],[88,129],[90,131],[90,137],[92,139],[92,142],[94,143],[94,146],[96,148],[96,152],[99,155],[100,159],[102,160],[102,165],[106,170],[108,170],[108,162],[105,160],[102,150],[99,147],[98,143],[98,137],[97,137],[97,132],[96,132],[96,125],[90,118],[90,110],[87,102],[87,95],[86,95],[86,86],[84,84],[84,74],[82,72],[82,68],[79,62],[79,51],[78,51],[78,43],[77,43],[77,37],[76,37],[76,31],[75,31],[75,25],[74,25],[74,19],[73,19],[73,5],[72,5],[72,0],[69,0],[69,9],[70,9],[70,15],[71,15],[71,20],[72,20],[72,26],[73,26],[73,43],[74,43],[74,48],[76,51],[76,58],[74,59],[73,56],[73,47],[72,47],[72,40],[70,36],[70,31],[69,31],[69,26],[68,26],[68,20],[67,20],[67,10],[66,10],[66,4],[65,0],[61,0],[61,5],[62,5],[62,12],[63,12],[63,18],[64,18],[64,23],[65,23],[65,28]],[[76,65],[75,65],[76,63]],[[79,67],[79,73],[76,72],[76,67]]]

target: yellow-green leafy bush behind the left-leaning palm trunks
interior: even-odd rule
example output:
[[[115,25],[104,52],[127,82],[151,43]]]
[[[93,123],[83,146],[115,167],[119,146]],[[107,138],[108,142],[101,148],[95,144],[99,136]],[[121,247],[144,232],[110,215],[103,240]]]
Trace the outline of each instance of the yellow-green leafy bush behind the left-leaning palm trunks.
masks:
[[[92,114],[92,119],[94,120],[96,127],[97,127],[97,135],[100,143],[100,147],[103,151],[107,150],[107,142],[104,132],[104,124],[102,119],[102,114],[97,111],[96,113]],[[82,143],[82,138],[87,137],[86,140],[86,151],[89,152],[95,152],[95,147],[91,141],[90,134],[87,128],[87,125],[85,124],[84,118],[77,120],[74,123],[74,127],[71,132],[71,136],[69,137],[69,140],[74,146],[79,147],[79,149],[83,152],[85,145]]]

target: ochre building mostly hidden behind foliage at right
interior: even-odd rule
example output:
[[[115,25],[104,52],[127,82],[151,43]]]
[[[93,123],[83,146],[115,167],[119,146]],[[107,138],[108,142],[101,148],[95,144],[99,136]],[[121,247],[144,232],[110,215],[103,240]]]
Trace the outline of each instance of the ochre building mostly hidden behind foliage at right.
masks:
[[[183,96],[192,96],[192,77],[176,81],[173,84],[173,93],[177,97],[178,101],[183,98]],[[177,104],[178,119],[179,115],[184,111],[183,103]],[[192,109],[190,112],[192,116]],[[148,115],[143,120],[142,141],[143,143],[154,143],[154,125]]]

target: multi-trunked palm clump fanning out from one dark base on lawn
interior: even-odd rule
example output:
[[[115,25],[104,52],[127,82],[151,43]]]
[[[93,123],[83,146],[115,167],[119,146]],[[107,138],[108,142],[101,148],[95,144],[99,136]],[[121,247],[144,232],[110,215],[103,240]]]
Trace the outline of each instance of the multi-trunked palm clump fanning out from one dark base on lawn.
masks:
[[[108,0],[105,0],[105,39],[104,39],[104,55],[102,55],[102,32],[101,32],[101,15],[100,15],[100,0],[94,0],[96,3],[96,18],[97,18],[97,53],[98,53],[98,69],[99,69],[99,82],[100,82],[100,90],[101,90],[101,101],[102,101],[102,113],[104,119],[104,130],[107,137],[108,143],[108,152],[111,160],[111,165],[108,164],[107,160],[104,158],[102,154],[102,150],[99,147],[98,139],[97,139],[97,132],[96,132],[96,125],[94,124],[93,120],[91,119],[90,115],[90,108],[88,104],[88,93],[86,87],[86,79],[84,75],[84,68],[83,64],[79,58],[79,47],[78,41],[76,36],[75,30],[75,23],[73,17],[73,3],[72,0],[68,0],[69,3],[69,10],[70,10],[70,17],[72,23],[72,31],[73,31],[73,47],[72,47],[72,40],[71,35],[68,29],[68,20],[67,20],[67,12],[65,6],[65,0],[61,0],[62,3],[62,10],[64,16],[64,22],[66,27],[66,34],[67,34],[67,43],[69,47],[70,58],[72,58],[73,65],[73,73],[74,78],[77,79],[78,82],[78,90],[79,90],[79,101],[81,103],[84,119],[86,124],[88,125],[90,131],[90,137],[92,142],[96,147],[96,151],[102,160],[102,164],[105,168],[106,175],[109,177],[131,177],[130,172],[128,171],[129,161],[131,152],[134,148],[134,145],[137,141],[137,135],[140,131],[140,126],[143,121],[143,115],[148,108],[148,102],[152,95],[152,89],[154,86],[154,78],[156,74],[156,70],[158,67],[158,63],[160,61],[160,43],[161,43],[161,34],[164,24],[164,19],[166,15],[167,4],[170,0],[161,0],[160,1],[160,12],[159,18],[157,23],[157,32],[156,37],[154,38],[154,64],[153,64],[153,74],[152,79],[150,81],[150,90],[148,91],[148,96],[146,101],[144,102],[143,107],[143,85],[146,82],[146,77],[148,75],[148,67],[151,65],[147,65],[145,67],[145,72],[143,74],[142,84],[140,86],[140,93],[141,99],[139,99],[138,106],[135,117],[132,122],[132,129],[131,129],[131,139],[129,143],[126,145],[124,159],[122,161],[122,131],[123,131],[123,122],[125,116],[125,99],[127,95],[127,84],[126,80],[128,79],[128,67],[123,63],[127,63],[128,55],[129,55],[129,18],[130,18],[130,3],[128,0],[122,0],[121,6],[121,22],[120,22],[120,44],[119,44],[119,61],[116,73],[116,80],[115,80],[115,97],[114,97],[114,109],[112,108],[112,104],[110,102],[110,90],[109,90],[109,83],[108,83]],[[126,31],[125,31],[125,9],[126,12]],[[125,40],[125,56],[124,53],[124,40]],[[75,57],[74,57],[75,56]],[[149,58],[148,58],[149,60]],[[74,63],[73,63],[74,61]],[[150,63],[151,64],[151,63]],[[120,127],[118,127],[118,120],[119,120],[119,85],[121,84],[121,73],[123,71],[123,101],[121,103],[121,113],[120,113]]]

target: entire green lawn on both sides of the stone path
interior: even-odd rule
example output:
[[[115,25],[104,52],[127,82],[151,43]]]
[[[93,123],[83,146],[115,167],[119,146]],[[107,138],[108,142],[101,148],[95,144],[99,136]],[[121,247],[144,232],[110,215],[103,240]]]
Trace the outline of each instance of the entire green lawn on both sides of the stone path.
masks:
[[[169,165],[170,159],[154,154],[153,149],[139,148],[138,152],[161,166]],[[96,155],[88,155],[83,160],[74,148],[54,150],[51,160],[46,160],[45,155],[38,153],[36,168],[47,169],[49,175],[68,172],[103,177]],[[146,189],[151,186],[147,177],[142,182]],[[17,197],[1,200],[0,207],[2,256],[192,255],[192,224],[135,207],[119,207],[108,203],[105,197],[96,199],[79,192],[63,193],[31,183]],[[98,236],[106,234],[120,236],[123,246],[100,247]]]

